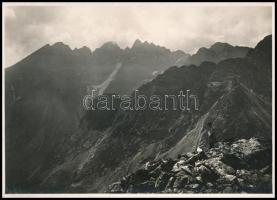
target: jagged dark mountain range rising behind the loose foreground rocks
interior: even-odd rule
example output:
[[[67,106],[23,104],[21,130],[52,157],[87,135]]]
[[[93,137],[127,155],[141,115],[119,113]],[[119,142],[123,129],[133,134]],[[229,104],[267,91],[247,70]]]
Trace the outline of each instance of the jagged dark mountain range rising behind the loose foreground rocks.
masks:
[[[140,40],[93,52],[45,45],[5,70],[7,192],[104,192],[147,161],[194,151],[208,122],[218,141],[270,141],[271,74],[271,36],[255,48],[215,43],[194,55]],[[91,88],[146,96],[190,89],[200,110],[85,111]]]

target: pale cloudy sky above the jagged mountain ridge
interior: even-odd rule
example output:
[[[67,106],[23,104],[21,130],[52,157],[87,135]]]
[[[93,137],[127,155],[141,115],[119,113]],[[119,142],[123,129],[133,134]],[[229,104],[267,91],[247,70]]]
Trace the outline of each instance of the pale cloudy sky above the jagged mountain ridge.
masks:
[[[107,41],[125,48],[138,38],[194,53],[217,41],[253,47],[272,33],[269,4],[10,3],[5,4],[4,20],[5,66],[58,41],[93,51]]]

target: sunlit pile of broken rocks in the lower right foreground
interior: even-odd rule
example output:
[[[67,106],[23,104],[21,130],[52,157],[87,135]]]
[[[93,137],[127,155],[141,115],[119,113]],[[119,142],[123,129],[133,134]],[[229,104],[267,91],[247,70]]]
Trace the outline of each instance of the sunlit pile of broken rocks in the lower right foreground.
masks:
[[[257,138],[218,142],[208,152],[147,162],[110,193],[271,193],[272,150]]]

